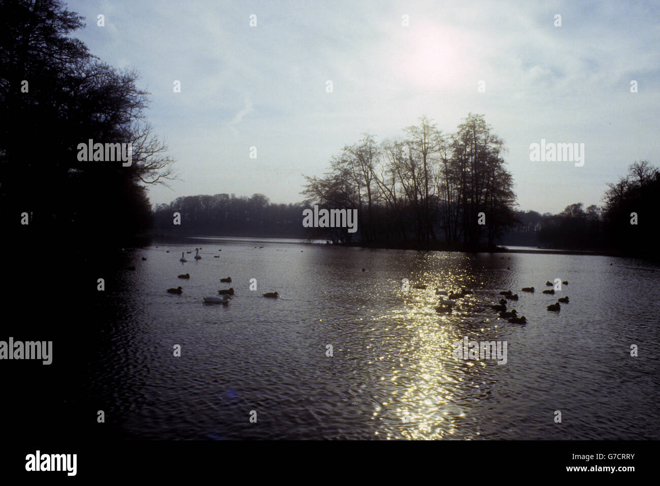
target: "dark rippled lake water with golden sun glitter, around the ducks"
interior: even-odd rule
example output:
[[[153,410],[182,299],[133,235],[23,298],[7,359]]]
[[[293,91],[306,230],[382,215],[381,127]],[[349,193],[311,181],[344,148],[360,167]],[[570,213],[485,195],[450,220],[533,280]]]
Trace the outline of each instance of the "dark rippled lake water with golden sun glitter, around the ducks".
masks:
[[[193,251],[179,261],[200,244],[202,260]],[[108,403],[117,436],[660,438],[660,267],[651,263],[273,240],[155,245],[131,254],[137,270],[108,288],[104,347],[82,384],[90,401]],[[227,276],[231,284],[219,282]],[[404,291],[404,278],[428,288]],[[541,294],[555,278],[568,285]],[[166,293],[179,285],[182,295]],[[230,286],[228,306],[202,303]],[[436,287],[474,293],[438,314]],[[526,326],[490,310],[508,289]],[[271,291],[281,297],[261,296]],[[546,310],[564,295],[570,304]],[[507,341],[507,363],[453,359],[465,336]]]

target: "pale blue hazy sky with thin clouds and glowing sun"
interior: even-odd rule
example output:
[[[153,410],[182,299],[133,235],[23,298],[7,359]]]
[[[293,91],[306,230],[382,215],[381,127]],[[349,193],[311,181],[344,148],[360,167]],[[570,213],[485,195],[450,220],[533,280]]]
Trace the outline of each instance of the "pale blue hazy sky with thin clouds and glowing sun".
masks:
[[[484,115],[506,143],[524,211],[601,205],[630,164],[660,165],[658,3],[65,3],[85,18],[73,35],[138,71],[150,92],[147,118],[180,178],[151,187],[152,203],[216,193],[302,201],[303,174],[321,176],[364,133],[401,137],[423,115],[444,133]],[[530,160],[541,139],[585,144],[583,166]]]

